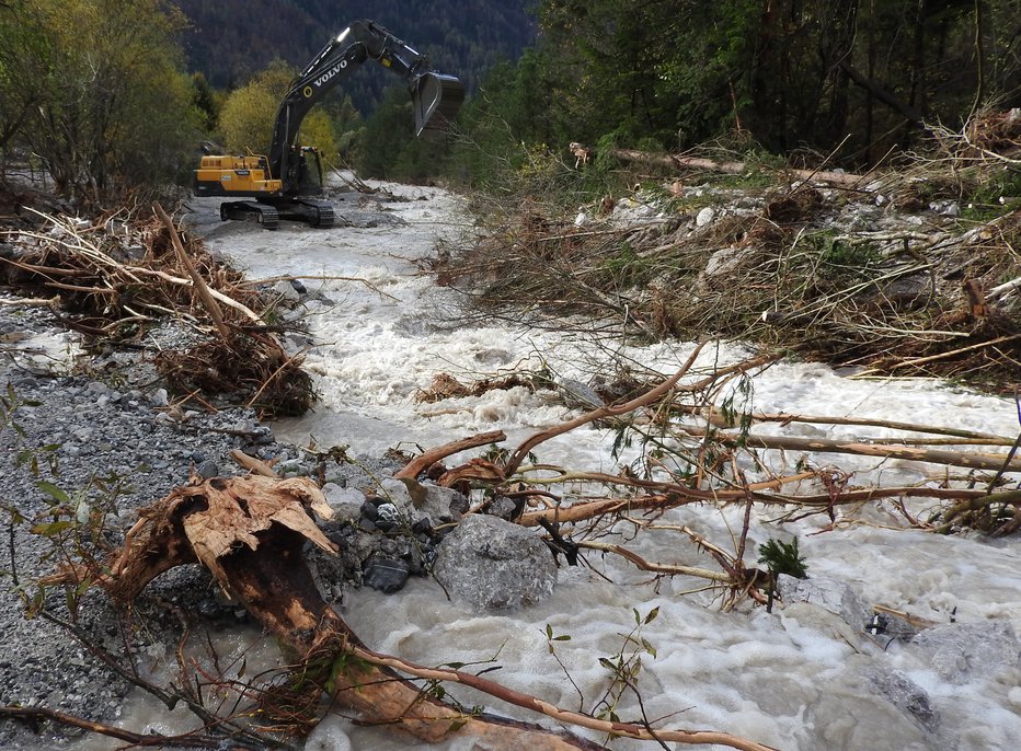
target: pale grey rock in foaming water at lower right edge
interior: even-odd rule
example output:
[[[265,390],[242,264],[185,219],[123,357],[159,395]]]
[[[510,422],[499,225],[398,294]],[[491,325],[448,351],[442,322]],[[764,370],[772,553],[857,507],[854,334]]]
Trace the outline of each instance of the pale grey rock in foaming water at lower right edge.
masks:
[[[926,628],[909,643],[951,683],[967,683],[1021,665],[1021,644],[1006,621],[949,623]]]

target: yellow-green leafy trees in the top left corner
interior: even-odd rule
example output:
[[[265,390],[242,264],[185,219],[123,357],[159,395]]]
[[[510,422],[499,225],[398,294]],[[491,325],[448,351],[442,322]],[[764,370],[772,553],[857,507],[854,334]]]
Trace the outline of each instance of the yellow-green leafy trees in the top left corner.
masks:
[[[12,116],[0,127],[18,123],[12,138],[65,195],[94,200],[173,181],[192,161],[198,123],[173,38],[182,23],[160,0],[4,3],[0,49],[12,57],[0,62],[0,97]]]

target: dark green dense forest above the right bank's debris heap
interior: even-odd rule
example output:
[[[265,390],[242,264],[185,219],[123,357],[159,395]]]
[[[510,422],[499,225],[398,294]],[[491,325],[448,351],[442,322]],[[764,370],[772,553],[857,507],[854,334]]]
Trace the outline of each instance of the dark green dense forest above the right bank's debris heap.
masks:
[[[742,129],[868,162],[924,122],[1021,104],[1018,0],[544,0],[538,19],[515,81],[549,113],[521,118],[537,141]]]

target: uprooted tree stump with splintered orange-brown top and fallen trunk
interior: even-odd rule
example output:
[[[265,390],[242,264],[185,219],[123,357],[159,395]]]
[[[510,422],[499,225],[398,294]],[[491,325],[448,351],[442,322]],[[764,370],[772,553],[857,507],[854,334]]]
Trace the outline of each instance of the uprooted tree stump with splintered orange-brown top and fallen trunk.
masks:
[[[768,747],[723,732],[652,730],[641,725],[609,723],[563,710],[541,700],[457,670],[425,668],[378,655],[357,638],[322,599],[302,558],[311,542],[334,553],[313,513],[332,511],[318,486],[307,478],[278,480],[248,475],[195,480],[162,501],[142,509],[97,584],[118,602],[128,603],[159,574],[175,566],[202,563],[229,597],[243,604],[285,649],[294,652],[301,680],[292,689],[316,706],[323,693],[356,710],[363,720],[386,724],[426,742],[470,736],[475,748],[597,749],[583,738],[538,725],[495,717],[446,704],[402,678],[402,672],[428,680],[462,683],[503,701],[552,717],[631,738],[720,743],[766,751]],[[87,575],[67,567],[48,582],[80,582]],[[264,708],[267,719],[272,706]],[[306,721],[306,730],[309,725]]]

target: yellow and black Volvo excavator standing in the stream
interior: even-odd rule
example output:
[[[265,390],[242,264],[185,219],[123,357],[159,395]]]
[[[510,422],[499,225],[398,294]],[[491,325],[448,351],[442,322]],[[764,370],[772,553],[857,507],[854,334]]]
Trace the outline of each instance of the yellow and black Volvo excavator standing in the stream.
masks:
[[[203,157],[195,171],[195,195],[249,199],[223,201],[220,219],[225,221],[254,220],[269,230],[280,219],[332,227],[333,207],[313,197],[323,193],[322,160],[316,148],[297,143],[298,128],[312,106],[369,59],[409,82],[416,136],[449,126],[464,101],[461,82],[431,70],[425,57],[379,24],[357,21],[331,39],[291,81],[276,113],[268,152]]]

